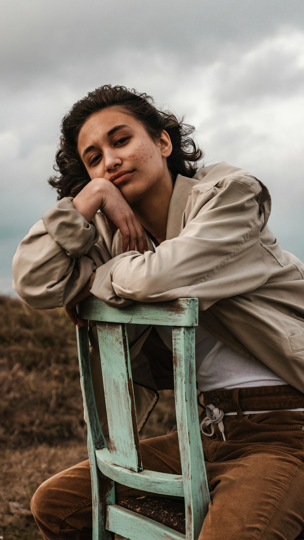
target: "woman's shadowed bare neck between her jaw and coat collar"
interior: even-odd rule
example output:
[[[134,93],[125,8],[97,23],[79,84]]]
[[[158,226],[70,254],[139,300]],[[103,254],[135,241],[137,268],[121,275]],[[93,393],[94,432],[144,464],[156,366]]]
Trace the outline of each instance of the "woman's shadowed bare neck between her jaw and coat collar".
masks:
[[[173,181],[170,173],[160,183],[147,192],[140,203],[132,206],[138,221],[158,242],[166,240],[167,219]]]

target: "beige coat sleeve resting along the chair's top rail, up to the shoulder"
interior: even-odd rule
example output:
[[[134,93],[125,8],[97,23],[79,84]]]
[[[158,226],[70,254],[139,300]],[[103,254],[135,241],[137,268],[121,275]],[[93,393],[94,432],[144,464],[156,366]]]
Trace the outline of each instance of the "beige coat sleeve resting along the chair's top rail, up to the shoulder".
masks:
[[[96,271],[91,292],[112,306],[122,299],[156,302],[199,299],[207,309],[222,298],[253,291],[268,279],[260,231],[261,185],[231,179],[198,195],[177,238],[156,252],[127,252]]]

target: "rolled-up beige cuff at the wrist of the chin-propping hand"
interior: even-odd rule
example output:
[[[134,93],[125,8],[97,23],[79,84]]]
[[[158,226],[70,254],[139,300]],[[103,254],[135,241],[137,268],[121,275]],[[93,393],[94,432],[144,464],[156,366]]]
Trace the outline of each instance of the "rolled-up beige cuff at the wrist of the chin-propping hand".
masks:
[[[82,257],[95,244],[99,234],[92,223],[88,223],[72,203],[65,197],[42,216],[42,221],[52,239],[65,249],[69,257]]]

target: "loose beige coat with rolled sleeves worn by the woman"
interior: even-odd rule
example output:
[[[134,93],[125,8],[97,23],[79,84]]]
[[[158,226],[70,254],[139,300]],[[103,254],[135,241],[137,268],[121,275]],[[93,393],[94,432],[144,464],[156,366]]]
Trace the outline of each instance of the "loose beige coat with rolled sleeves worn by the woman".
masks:
[[[88,224],[65,198],[19,245],[13,286],[35,308],[64,306],[95,271],[92,293],[112,306],[198,298],[202,326],[304,392],[304,265],[282,251],[267,226],[270,211],[267,188],[245,170],[219,163],[194,178],[179,175],[166,241],[142,255],[122,253],[119,231],[102,214]],[[147,334],[133,367],[146,386],[170,387],[170,354],[155,332],[146,340],[152,348],[136,356]],[[153,376],[141,358],[151,350],[164,358]]]

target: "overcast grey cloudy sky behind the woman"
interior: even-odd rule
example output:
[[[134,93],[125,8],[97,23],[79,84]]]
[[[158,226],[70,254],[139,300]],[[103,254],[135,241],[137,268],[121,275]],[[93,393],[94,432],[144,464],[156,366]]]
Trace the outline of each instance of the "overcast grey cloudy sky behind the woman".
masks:
[[[303,0],[10,0],[0,37],[0,293],[47,184],[60,120],[105,83],[136,87],[197,127],[205,163],[269,188],[269,225],[304,260]]]

